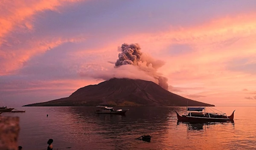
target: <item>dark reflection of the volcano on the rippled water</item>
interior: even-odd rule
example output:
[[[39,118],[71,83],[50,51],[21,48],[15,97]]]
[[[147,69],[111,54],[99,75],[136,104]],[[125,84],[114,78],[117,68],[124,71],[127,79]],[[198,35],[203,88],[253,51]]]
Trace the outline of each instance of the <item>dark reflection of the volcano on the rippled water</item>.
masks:
[[[82,107],[73,107],[70,113],[76,116],[77,128],[82,126],[84,133],[87,133],[87,129],[90,128],[90,132],[98,139],[92,141],[94,144],[90,147],[91,149],[97,149],[99,145],[103,146],[99,144],[99,141],[106,147],[114,149],[162,149],[164,143],[161,139],[166,137],[169,129],[169,109],[137,108],[122,108],[130,109],[126,115],[94,114],[95,108],[93,107],[87,107],[86,110]],[[142,135],[150,135],[154,139],[135,140]],[[82,138],[87,140],[86,137]],[[145,144],[145,141],[151,144]]]

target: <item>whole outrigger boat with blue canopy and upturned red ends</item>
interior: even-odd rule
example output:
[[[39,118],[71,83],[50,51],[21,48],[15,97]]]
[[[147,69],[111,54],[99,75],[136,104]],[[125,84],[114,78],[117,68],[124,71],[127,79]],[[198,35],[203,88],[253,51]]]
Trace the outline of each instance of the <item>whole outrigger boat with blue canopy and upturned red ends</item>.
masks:
[[[214,108],[212,108],[214,109]],[[204,112],[203,112],[204,110]],[[210,109],[211,110],[211,109]],[[216,109],[215,109],[216,110]],[[218,110],[219,111],[219,110]],[[176,111],[175,111],[176,112]],[[221,112],[221,111],[219,111]],[[177,119],[181,122],[225,122],[233,121],[234,112],[232,115],[227,116],[226,113],[208,113],[206,112],[206,107],[187,107],[186,113],[184,115],[179,115],[177,112]]]

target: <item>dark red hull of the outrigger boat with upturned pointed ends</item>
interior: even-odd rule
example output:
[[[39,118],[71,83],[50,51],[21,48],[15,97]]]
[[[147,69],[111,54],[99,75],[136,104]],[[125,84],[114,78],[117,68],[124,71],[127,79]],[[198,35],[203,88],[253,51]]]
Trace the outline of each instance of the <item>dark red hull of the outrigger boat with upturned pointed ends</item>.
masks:
[[[175,111],[176,112],[176,111]],[[234,112],[232,115],[223,118],[208,118],[208,117],[193,117],[193,116],[180,116],[177,112],[177,119],[180,122],[228,122],[234,120]]]

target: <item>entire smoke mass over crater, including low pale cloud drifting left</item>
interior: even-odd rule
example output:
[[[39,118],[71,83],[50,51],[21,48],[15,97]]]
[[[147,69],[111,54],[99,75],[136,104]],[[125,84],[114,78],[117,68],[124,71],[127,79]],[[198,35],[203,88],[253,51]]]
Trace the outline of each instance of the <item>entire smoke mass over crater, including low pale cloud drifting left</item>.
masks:
[[[157,72],[165,62],[155,60],[149,55],[140,51],[140,45],[124,43],[119,48],[121,53],[116,62],[108,61],[115,65],[111,69],[102,69],[101,65],[88,64],[87,72],[79,72],[80,76],[87,76],[95,79],[109,80],[111,78],[130,78],[152,81],[163,89],[168,90],[168,78]]]

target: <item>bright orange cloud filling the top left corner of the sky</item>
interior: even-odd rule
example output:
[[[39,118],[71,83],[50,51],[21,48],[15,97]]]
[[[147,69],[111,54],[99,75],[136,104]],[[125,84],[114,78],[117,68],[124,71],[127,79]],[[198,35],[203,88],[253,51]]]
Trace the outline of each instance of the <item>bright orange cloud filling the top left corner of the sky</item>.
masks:
[[[0,3],[0,45],[4,36],[15,26],[24,23],[28,29],[32,29],[32,24],[26,20],[37,12],[57,11],[59,6],[77,1],[79,0],[4,0]]]

